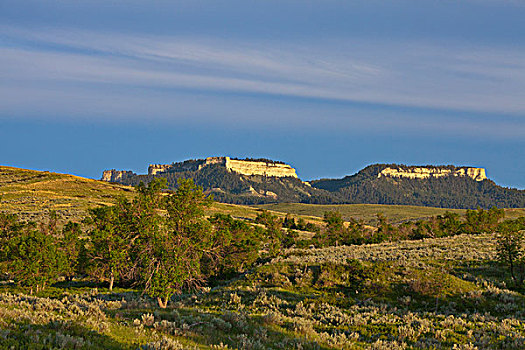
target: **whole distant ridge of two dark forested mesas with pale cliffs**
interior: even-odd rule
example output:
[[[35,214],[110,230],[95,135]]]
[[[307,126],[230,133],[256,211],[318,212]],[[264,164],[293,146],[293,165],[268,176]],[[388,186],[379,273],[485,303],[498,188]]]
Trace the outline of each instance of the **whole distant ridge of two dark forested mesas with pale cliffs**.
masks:
[[[210,157],[152,164],[147,175],[106,170],[102,180],[126,185],[164,177],[193,178],[214,198],[236,204],[397,204],[440,208],[524,208],[525,191],[496,185],[484,168],[373,164],[342,179],[301,181],[293,167],[270,159]]]

